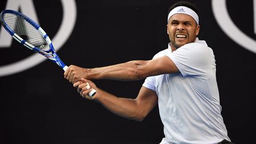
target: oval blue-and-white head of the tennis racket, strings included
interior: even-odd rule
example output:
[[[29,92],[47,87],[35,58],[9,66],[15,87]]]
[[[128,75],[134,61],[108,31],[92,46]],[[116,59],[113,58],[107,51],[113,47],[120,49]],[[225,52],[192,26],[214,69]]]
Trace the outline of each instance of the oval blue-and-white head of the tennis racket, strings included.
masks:
[[[47,40],[47,36],[45,36],[46,33],[40,28],[40,25],[26,15],[11,9],[6,9],[1,12],[0,20],[5,30],[7,30],[12,37],[16,38],[17,41],[29,43],[25,45],[28,48],[33,49],[37,47],[44,51],[50,50],[50,44],[52,42],[49,37]]]

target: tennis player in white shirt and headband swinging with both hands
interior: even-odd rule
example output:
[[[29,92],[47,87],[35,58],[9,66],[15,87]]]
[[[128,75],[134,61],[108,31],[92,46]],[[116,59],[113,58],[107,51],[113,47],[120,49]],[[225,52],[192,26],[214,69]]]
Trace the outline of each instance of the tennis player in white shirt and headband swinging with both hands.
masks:
[[[69,66],[65,78],[82,97],[98,101],[113,113],[142,121],[158,103],[164,124],[161,144],[232,143],[223,122],[213,50],[199,40],[199,14],[190,2],[169,8],[168,49],[152,60],[134,60],[102,68]],[[145,79],[135,99],[119,98],[87,79]],[[97,90],[89,97],[91,88]]]

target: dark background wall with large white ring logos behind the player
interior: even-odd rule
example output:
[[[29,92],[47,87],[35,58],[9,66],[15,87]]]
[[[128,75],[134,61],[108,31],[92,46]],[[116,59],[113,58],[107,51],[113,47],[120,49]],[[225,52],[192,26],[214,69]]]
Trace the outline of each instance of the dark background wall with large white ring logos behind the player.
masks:
[[[4,0],[0,10],[36,18],[66,65],[95,68],[149,60],[166,49],[167,12],[174,2]],[[256,1],[190,2],[199,8],[199,39],[215,53],[228,135],[235,143],[252,142]],[[142,122],[116,116],[82,98],[62,69],[12,41],[3,28],[0,54],[0,143],[155,144],[164,137],[158,105]],[[94,82],[119,97],[135,98],[144,80]]]

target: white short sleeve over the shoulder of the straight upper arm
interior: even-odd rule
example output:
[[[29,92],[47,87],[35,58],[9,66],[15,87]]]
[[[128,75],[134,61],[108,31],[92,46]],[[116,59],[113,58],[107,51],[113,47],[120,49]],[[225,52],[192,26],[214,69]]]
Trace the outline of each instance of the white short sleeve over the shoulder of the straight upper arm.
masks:
[[[167,53],[167,56],[174,62],[183,76],[203,76],[207,73],[209,66],[210,50],[207,45],[199,43],[185,44],[174,52]]]

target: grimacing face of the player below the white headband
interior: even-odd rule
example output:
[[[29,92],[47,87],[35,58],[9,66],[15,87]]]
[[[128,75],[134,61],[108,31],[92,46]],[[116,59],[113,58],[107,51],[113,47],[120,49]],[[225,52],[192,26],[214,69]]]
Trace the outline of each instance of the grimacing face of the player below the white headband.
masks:
[[[199,34],[199,28],[199,25],[190,15],[172,15],[167,24],[167,33],[172,50],[176,50],[184,44],[193,43]]]

